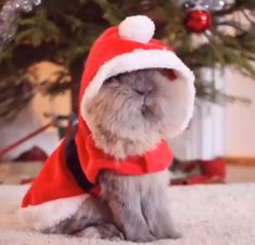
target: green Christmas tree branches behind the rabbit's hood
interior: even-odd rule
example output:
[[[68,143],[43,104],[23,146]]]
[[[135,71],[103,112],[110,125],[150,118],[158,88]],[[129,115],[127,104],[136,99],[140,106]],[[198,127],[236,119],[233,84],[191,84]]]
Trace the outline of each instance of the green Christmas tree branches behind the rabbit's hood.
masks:
[[[0,0],[0,5],[2,2]],[[246,10],[255,10],[254,0],[235,0],[213,13],[208,42],[194,47],[183,25],[184,12],[174,0],[43,0],[43,5],[35,12],[21,16],[15,39],[0,52],[0,116],[14,115],[36,92],[55,95],[71,89],[78,93],[84,61],[95,38],[109,26],[132,14],[148,14],[156,24],[156,38],[171,46],[191,69],[211,68],[216,64],[221,69],[235,66],[255,78],[252,66],[255,61],[254,26],[247,29],[237,21],[222,18],[235,12],[246,15]],[[237,35],[219,31],[221,26],[234,28]],[[25,73],[40,61],[60,64],[65,72],[35,86],[36,82],[25,78]],[[9,96],[15,96],[16,89],[21,88],[24,93],[18,94],[18,104],[16,98],[12,101]],[[218,91],[214,87],[206,92],[200,91],[200,98],[217,99]]]

